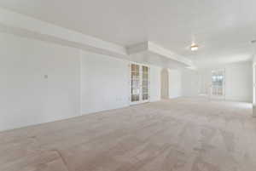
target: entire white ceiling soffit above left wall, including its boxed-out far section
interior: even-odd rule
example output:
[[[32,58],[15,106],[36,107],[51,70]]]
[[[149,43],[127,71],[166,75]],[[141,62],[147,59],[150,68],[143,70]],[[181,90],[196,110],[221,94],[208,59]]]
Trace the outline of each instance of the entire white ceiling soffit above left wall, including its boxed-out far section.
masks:
[[[131,59],[131,54],[147,51],[150,55],[152,54],[151,56],[154,54],[158,55],[158,58],[169,59],[184,66],[193,66],[191,60],[150,41],[124,47],[3,8],[0,8],[0,31],[89,50],[97,54],[107,54],[126,60]]]

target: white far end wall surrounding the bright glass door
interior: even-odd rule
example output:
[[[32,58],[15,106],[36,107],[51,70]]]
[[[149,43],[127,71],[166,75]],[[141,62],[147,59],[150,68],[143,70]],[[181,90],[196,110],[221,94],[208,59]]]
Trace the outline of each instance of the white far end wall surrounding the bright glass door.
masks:
[[[199,71],[183,71],[183,96],[209,94],[212,70],[225,70],[225,100],[252,102],[252,62],[212,66]]]

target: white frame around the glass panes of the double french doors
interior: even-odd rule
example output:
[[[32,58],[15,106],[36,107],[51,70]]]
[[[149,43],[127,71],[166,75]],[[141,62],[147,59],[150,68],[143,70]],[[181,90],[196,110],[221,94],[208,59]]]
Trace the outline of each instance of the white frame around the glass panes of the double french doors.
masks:
[[[139,94],[139,101],[131,101],[131,65],[135,64],[139,66],[139,73],[140,73],[140,94]],[[148,100],[143,100],[143,66],[147,66],[148,67]],[[128,65],[128,71],[129,71],[129,103],[130,105],[138,105],[138,104],[142,104],[142,103],[147,103],[150,101],[150,66],[143,64],[143,63],[137,63],[137,62],[130,62]]]

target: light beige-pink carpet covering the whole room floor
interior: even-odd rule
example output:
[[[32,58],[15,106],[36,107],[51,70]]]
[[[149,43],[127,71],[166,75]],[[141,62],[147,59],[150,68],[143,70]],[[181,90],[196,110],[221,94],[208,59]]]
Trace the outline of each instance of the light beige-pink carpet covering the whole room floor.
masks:
[[[162,100],[0,133],[1,171],[255,171],[252,105]]]

